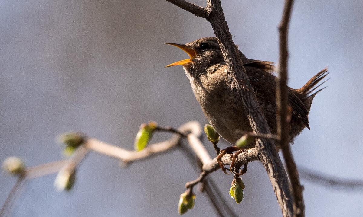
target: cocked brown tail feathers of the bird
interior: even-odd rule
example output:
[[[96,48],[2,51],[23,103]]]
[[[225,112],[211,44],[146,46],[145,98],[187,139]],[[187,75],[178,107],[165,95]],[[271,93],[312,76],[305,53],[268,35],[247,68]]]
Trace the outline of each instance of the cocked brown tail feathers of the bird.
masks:
[[[305,105],[307,107],[309,107],[309,108],[307,108],[307,110],[310,110],[310,105],[313,102],[314,96],[317,95],[324,88],[326,88],[326,87],[323,87],[323,88],[319,89],[318,91],[315,91],[318,87],[320,87],[322,84],[324,84],[325,82],[327,82],[327,80],[330,79],[330,78],[326,79],[325,81],[323,81],[322,83],[317,85],[328,74],[329,74],[328,68],[326,67],[323,70],[321,70],[318,74],[316,74],[313,78],[311,78],[302,88],[297,89],[297,92],[304,95],[305,99],[307,100],[307,102],[305,103]],[[317,86],[315,87],[315,85],[317,85]]]

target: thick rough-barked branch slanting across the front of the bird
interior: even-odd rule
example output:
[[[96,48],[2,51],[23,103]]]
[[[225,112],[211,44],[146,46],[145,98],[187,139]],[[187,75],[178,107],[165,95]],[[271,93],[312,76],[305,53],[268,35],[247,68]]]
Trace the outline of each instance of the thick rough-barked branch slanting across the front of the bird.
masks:
[[[211,23],[216,34],[229,73],[240,95],[240,100],[246,108],[253,132],[256,134],[270,134],[265,116],[257,103],[256,95],[239,58],[237,46],[234,45],[231,33],[229,33],[220,0],[207,1],[207,14],[207,20]],[[269,175],[283,216],[293,216],[290,184],[274,142],[257,139],[256,148],[259,150],[259,160],[264,164]]]

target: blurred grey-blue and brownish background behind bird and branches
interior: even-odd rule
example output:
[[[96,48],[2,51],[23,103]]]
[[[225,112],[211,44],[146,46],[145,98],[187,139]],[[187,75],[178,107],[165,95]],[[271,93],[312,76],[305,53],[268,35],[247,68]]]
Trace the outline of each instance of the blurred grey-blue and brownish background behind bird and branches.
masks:
[[[222,6],[244,54],[277,62],[283,1]],[[290,23],[289,86],[302,87],[326,66],[331,77],[314,99],[311,130],[292,151],[298,165],[341,178],[363,179],[362,11],[361,0],[296,1]],[[164,68],[187,55],[164,43],[214,34],[203,18],[167,1],[1,0],[0,29],[0,161],[19,156],[35,166],[62,159],[54,137],[70,130],[133,149],[143,122],[207,123],[183,68]],[[170,137],[156,133],[152,142]],[[232,175],[212,177],[241,216],[281,216],[262,164],[248,168],[239,205],[228,195]],[[126,169],[91,153],[71,192],[54,189],[56,174],[34,179],[11,216],[178,216],[184,184],[197,176],[179,150]],[[306,216],[362,214],[362,191],[301,181]],[[15,182],[0,172],[1,205]],[[203,194],[196,196],[185,216],[216,216]]]

